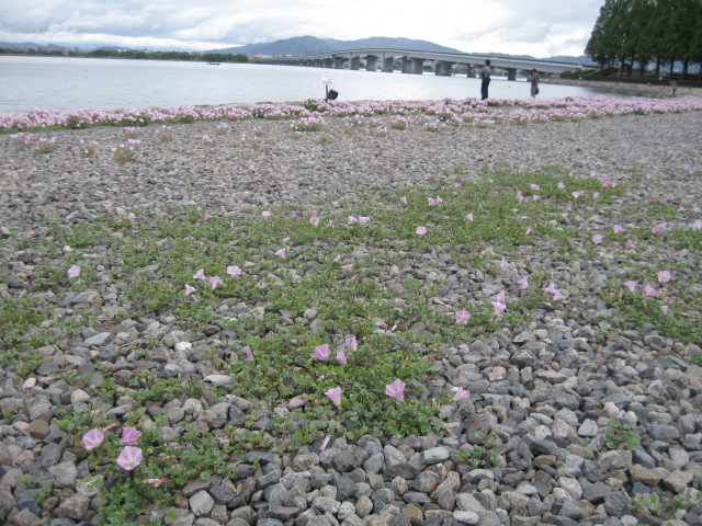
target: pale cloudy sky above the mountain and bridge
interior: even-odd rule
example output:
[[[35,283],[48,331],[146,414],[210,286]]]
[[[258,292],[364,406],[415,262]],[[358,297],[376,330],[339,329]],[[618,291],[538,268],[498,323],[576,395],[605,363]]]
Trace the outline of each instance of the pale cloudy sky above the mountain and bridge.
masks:
[[[217,49],[293,36],[581,55],[604,0],[0,0],[0,42]]]

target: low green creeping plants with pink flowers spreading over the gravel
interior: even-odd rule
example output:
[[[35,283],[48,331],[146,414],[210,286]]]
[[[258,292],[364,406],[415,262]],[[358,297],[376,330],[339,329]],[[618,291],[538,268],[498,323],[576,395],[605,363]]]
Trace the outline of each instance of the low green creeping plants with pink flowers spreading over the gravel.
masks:
[[[126,397],[134,404],[124,424],[138,425],[144,431],[140,445],[146,453],[158,451],[160,459],[140,466],[140,476],[168,477],[182,485],[200,476],[230,474],[252,448],[294,451],[329,435],[441,433],[445,422],[440,408],[451,403],[452,393],[427,388],[439,361],[451,348],[476,339],[535,328],[547,311],[566,322],[595,327],[605,320],[615,331],[648,327],[682,343],[699,343],[700,297],[691,285],[699,285],[700,278],[690,264],[699,261],[699,231],[608,233],[596,245],[587,225],[570,220],[596,214],[607,217],[612,203],[626,191],[623,184],[603,186],[595,178],[573,178],[556,167],[528,174],[484,172],[479,182],[464,179],[456,167],[426,187],[367,195],[359,204],[318,203],[316,227],[309,222],[310,210],[303,206],[271,210],[269,218],[238,214],[236,221],[224,213],[205,219],[200,209],[173,208],[162,215],[133,210],[136,222],[124,214],[79,226],[50,225],[50,236],[39,249],[45,261],[35,266],[32,286],[39,291],[59,290],[59,295],[61,288],[80,291],[100,272],[100,278],[123,290],[131,304],[124,317],[170,317],[195,341],[216,325],[226,338],[193,350],[199,357],[192,359],[206,362],[234,380],[215,388],[184,371],[160,378],[148,370],[135,375],[99,368],[101,384],[90,388],[91,401],[63,414],[61,428],[79,445],[82,433],[110,423],[104,408]],[[584,195],[574,198],[573,192]],[[596,192],[599,197],[593,199]],[[652,206],[655,220],[672,214],[667,206]],[[473,220],[467,214],[473,214]],[[355,221],[350,222],[350,216]],[[360,217],[370,220],[361,224]],[[328,220],[335,226],[326,226]],[[427,227],[424,236],[416,235],[419,226]],[[528,233],[528,228],[533,230]],[[645,249],[627,251],[627,238]],[[20,242],[11,239],[7,249]],[[629,279],[655,283],[661,268],[646,255],[668,243],[684,248],[689,255],[667,262],[673,279],[658,287],[660,296],[645,298],[625,290]],[[73,251],[61,252],[65,245]],[[282,248],[285,258],[275,255]],[[528,276],[530,287],[510,285],[501,261],[511,265],[509,272],[518,270],[519,276]],[[582,271],[588,281],[604,273],[609,276],[602,288],[570,286],[568,273],[581,262],[589,265]],[[67,282],[66,271],[72,264],[81,266],[81,274]],[[342,267],[350,264],[353,268]],[[242,274],[228,276],[229,265],[238,265]],[[213,287],[206,279],[195,279],[200,268],[223,283]],[[559,288],[567,293],[567,300],[552,300],[544,293],[543,286],[554,281],[563,282]],[[509,289],[507,311],[499,317],[491,305],[495,295],[480,289],[485,282]],[[185,284],[195,291],[185,295]],[[451,299],[460,288],[466,291]],[[57,304],[0,300],[3,366],[20,363],[16,374],[25,376],[41,364],[38,346],[59,344],[77,334],[80,323],[61,322]],[[453,317],[461,309],[472,315],[466,325]],[[118,321],[104,315],[100,320]],[[355,336],[358,348],[344,345],[349,335]],[[315,347],[325,344],[331,347],[331,358],[313,357]],[[127,343],[123,352],[144,358],[152,351],[171,353],[171,346],[167,339],[150,338]],[[245,346],[253,361],[247,359]],[[346,353],[346,365],[333,358],[338,351]],[[700,363],[699,355],[686,359]],[[385,386],[397,378],[407,384],[404,402],[385,395]],[[93,380],[64,377],[81,387]],[[342,392],[339,407],[326,396],[336,387]],[[214,404],[224,397],[240,397],[249,403],[241,425],[210,430],[188,415],[176,426],[179,439],[168,443],[160,435],[168,420],[148,411],[163,400],[206,399]],[[287,401],[294,398],[303,403],[290,411]],[[466,453],[466,458],[495,464],[490,451],[478,448]],[[111,465],[113,459],[107,457],[115,450],[100,455],[95,469]],[[115,483],[105,493],[106,508],[117,513],[126,502],[152,500],[150,490],[135,488],[128,479]]]

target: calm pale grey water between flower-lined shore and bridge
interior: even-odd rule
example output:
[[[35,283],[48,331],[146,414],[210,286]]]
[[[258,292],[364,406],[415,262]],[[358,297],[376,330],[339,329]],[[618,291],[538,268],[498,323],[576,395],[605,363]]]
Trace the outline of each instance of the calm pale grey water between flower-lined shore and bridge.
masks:
[[[480,81],[431,73],[349,71],[254,64],[110,60],[99,58],[0,56],[0,113],[36,107],[61,112],[72,107],[117,110],[254,102],[291,102],[325,95],[322,73],[344,101],[427,101],[479,98]],[[590,88],[542,82],[540,99],[595,96]],[[529,84],[494,78],[490,96],[525,99]],[[620,95],[621,96],[621,95]]]

